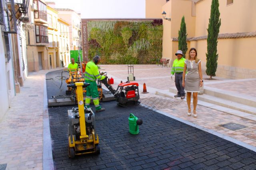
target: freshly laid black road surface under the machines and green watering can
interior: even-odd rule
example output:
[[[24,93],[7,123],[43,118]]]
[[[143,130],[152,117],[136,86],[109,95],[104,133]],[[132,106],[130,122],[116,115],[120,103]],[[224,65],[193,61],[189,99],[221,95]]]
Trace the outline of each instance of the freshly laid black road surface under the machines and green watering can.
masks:
[[[59,73],[54,71],[46,75],[48,98],[56,93],[60,95],[57,87],[60,81],[54,82],[55,85],[50,80]],[[63,87],[61,93],[65,93],[66,84]],[[115,101],[101,105],[106,111],[95,113],[100,154],[74,159],[68,157],[67,110],[76,106],[48,109],[52,154],[57,170],[256,169],[256,153],[252,150],[140,105],[123,108]],[[93,105],[92,108],[95,111]],[[130,113],[143,120],[137,135],[129,133]]]

